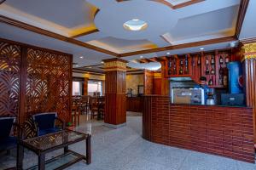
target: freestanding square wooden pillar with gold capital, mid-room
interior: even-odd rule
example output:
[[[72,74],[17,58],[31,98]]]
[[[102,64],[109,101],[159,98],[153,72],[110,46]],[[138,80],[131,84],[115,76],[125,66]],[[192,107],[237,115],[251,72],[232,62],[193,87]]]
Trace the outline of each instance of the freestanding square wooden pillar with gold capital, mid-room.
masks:
[[[126,61],[123,59],[105,59],[105,116],[108,127],[118,128],[126,123]]]

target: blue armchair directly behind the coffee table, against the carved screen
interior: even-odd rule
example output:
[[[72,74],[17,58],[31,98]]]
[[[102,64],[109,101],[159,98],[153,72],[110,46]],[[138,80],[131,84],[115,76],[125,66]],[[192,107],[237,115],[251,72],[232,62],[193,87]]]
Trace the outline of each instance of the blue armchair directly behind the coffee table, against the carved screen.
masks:
[[[64,122],[57,117],[56,112],[48,113],[39,113],[33,115],[33,120],[37,123],[38,126],[38,136],[42,136],[48,133],[55,133],[65,128]],[[55,126],[55,121],[61,123],[61,127]]]

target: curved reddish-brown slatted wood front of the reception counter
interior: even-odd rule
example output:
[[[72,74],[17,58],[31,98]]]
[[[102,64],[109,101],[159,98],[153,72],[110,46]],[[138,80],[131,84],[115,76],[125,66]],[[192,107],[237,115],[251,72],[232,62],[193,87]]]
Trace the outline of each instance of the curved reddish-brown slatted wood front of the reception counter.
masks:
[[[159,144],[254,162],[253,109],[172,105],[167,96],[144,96],[143,138]]]

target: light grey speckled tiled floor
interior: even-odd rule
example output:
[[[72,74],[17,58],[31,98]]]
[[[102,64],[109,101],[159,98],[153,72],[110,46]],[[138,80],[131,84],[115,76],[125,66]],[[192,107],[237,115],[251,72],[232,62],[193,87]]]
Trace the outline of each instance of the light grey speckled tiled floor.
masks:
[[[150,143],[141,137],[142,117],[131,115],[127,116],[127,126],[119,129],[104,127],[102,122],[81,123],[77,130],[92,133],[92,163],[86,165],[84,161],[80,161],[67,169],[256,170],[254,164]],[[70,148],[85,154],[84,143],[74,144]],[[55,154],[60,152],[61,150]],[[0,169],[14,165],[13,156],[0,156]],[[47,157],[51,156],[53,154]],[[37,162],[36,156],[31,152],[26,152],[25,159],[25,167]]]

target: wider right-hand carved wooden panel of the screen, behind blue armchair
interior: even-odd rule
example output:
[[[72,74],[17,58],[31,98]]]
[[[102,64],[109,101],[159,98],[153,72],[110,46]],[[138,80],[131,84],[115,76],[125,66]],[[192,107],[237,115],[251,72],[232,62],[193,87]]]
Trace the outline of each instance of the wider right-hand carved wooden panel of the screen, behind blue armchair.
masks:
[[[27,49],[25,115],[57,111],[70,121],[70,56]]]

